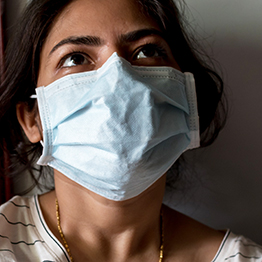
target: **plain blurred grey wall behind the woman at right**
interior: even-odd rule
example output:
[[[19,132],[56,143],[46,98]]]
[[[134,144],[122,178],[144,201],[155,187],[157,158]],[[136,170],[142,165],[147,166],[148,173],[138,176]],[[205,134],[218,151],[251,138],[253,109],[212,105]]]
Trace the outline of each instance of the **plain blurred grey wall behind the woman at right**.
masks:
[[[222,68],[229,116],[210,148],[188,154],[198,160],[195,181],[173,203],[262,244],[262,1],[185,2],[199,39]]]

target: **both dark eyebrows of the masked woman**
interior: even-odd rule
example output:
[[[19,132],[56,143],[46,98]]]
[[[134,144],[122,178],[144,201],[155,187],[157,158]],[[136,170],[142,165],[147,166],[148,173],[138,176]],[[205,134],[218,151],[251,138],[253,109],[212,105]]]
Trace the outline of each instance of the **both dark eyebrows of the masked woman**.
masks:
[[[127,34],[123,34],[119,37],[119,40],[122,43],[129,43],[129,42],[138,41],[141,38],[151,35],[158,35],[163,39],[165,39],[164,34],[161,31],[156,30],[154,28],[153,29],[146,28],[146,29],[132,31]],[[55,45],[50,51],[49,56],[63,45],[72,44],[72,45],[101,46],[104,43],[105,41],[97,36],[70,36],[68,38],[63,39],[57,45]]]

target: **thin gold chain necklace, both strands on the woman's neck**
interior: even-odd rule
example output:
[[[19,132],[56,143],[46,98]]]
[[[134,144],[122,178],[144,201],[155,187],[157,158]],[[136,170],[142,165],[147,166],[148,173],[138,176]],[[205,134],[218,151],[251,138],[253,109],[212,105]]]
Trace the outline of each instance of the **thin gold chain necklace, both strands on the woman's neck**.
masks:
[[[66,242],[66,239],[65,239],[65,236],[64,236],[64,233],[62,231],[62,227],[61,227],[61,223],[60,223],[60,212],[59,212],[59,205],[58,205],[58,200],[56,198],[56,219],[57,219],[57,228],[58,228],[58,231],[59,231],[59,234],[63,240],[63,243],[64,243],[64,247],[67,251],[67,254],[69,255],[70,257],[70,260],[71,262],[73,262],[73,257],[71,255],[71,252],[70,252],[70,249],[69,249],[69,246]],[[159,262],[162,262],[163,261],[163,257],[164,257],[164,221],[163,221],[163,211],[161,209],[161,215],[160,215],[160,223],[161,223],[161,244],[160,244],[160,252],[159,252]]]

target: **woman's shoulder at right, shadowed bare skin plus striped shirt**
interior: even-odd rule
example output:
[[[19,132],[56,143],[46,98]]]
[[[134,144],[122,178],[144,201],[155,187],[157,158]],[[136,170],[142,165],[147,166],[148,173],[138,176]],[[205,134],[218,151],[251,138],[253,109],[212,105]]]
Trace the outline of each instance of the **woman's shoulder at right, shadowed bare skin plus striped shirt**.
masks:
[[[262,261],[262,247],[248,238],[214,230],[176,211],[168,215],[166,247],[174,261]]]

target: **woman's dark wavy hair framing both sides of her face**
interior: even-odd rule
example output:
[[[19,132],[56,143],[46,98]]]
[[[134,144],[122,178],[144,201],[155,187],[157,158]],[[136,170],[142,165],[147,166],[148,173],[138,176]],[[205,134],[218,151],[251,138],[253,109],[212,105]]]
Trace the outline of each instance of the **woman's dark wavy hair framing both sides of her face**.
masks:
[[[16,105],[22,102],[29,111],[37,112],[35,101],[29,97],[36,88],[40,52],[53,21],[73,1],[76,0],[31,0],[6,51],[4,81],[0,86],[0,172],[18,176],[27,170],[35,182],[33,186],[38,185],[40,175],[45,174],[43,167],[35,167],[42,148],[40,143],[30,143],[24,135],[17,121]],[[223,82],[210,68],[209,59],[196,47],[192,36],[186,33],[185,17],[180,13],[182,0],[176,3],[172,0],[135,1],[146,16],[158,23],[181,70],[194,74],[201,146],[210,145],[225,124]],[[3,165],[6,156],[8,167]],[[176,173],[176,170],[177,164],[170,172]]]

